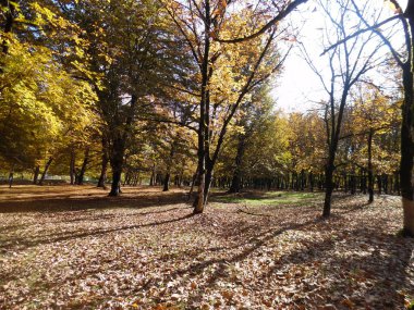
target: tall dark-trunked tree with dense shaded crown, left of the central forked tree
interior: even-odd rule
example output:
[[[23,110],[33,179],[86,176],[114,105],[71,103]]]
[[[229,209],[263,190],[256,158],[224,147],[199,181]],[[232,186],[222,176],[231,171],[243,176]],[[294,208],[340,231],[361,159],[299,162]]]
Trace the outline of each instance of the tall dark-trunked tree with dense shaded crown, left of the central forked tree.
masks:
[[[90,69],[100,76],[95,84],[102,119],[100,178],[109,159],[109,195],[118,196],[138,108],[149,104],[149,97],[160,91],[162,70],[172,67],[163,52],[173,44],[162,23],[163,13],[154,1],[73,1],[64,10],[84,29]]]

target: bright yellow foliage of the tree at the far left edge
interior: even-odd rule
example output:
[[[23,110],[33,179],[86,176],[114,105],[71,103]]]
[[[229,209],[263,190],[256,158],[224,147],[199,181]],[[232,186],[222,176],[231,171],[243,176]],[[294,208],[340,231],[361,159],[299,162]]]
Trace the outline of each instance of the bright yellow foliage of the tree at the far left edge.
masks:
[[[77,29],[37,2],[23,2],[23,8],[5,2],[0,14],[0,152],[12,166],[27,169],[58,147],[69,119],[86,125],[95,95],[74,77],[83,67]]]

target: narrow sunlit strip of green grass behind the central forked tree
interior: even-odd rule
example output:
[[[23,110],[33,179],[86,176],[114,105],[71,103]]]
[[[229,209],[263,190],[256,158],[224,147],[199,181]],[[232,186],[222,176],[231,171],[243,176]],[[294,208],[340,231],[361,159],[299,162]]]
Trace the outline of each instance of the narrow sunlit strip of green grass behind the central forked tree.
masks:
[[[295,193],[295,191],[266,191],[245,193],[242,195],[228,195],[217,197],[216,200],[224,203],[244,203],[247,207],[256,206],[305,206],[320,200],[320,193]]]

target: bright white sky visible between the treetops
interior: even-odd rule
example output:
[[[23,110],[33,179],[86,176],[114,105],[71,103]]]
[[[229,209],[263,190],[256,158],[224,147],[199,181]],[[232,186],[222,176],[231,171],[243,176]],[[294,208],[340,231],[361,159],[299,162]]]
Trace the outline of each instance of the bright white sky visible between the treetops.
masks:
[[[383,3],[383,0],[377,1],[379,5]],[[406,0],[399,2],[405,9]],[[314,1],[305,5],[291,14],[289,22],[301,27],[300,40],[306,46],[309,54],[314,55],[314,61],[321,64],[322,48],[318,46],[317,38],[324,21],[318,10],[315,10]],[[299,49],[294,48],[285,60],[283,74],[277,79],[277,86],[272,90],[277,107],[285,112],[306,112],[316,109],[315,102],[326,99],[326,96],[320,80],[301,57]]]

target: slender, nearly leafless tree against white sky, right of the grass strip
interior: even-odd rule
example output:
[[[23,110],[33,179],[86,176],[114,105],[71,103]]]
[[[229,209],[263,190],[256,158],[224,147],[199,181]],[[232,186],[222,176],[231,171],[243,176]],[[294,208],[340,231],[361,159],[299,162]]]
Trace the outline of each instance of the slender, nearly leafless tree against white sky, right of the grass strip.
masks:
[[[337,0],[332,2],[319,2],[325,15],[329,21],[329,26],[325,33],[324,41],[332,46],[331,38],[336,41],[346,38],[352,28],[361,28],[363,22],[356,20],[353,24],[351,3],[349,1]],[[364,7],[364,14],[370,10]],[[331,13],[338,12],[338,13]],[[328,218],[331,209],[331,197],[333,193],[333,173],[336,171],[336,158],[339,138],[342,131],[345,106],[352,87],[358,79],[373,67],[378,65],[375,58],[381,42],[375,41],[375,36],[354,37],[352,40],[343,40],[330,49],[325,55],[328,61],[329,77],[324,75],[310,60],[306,49],[302,46],[304,57],[319,77],[325,91],[328,95],[328,102],[325,107],[326,141],[328,158],[325,164],[325,202],[322,215]]]

